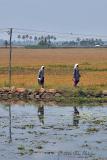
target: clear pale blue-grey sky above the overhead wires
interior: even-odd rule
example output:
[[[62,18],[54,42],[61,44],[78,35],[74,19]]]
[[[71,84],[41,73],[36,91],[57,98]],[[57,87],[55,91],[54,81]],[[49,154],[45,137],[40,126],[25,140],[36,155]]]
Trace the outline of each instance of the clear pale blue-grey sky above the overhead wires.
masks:
[[[107,35],[107,0],[0,0],[0,28]]]

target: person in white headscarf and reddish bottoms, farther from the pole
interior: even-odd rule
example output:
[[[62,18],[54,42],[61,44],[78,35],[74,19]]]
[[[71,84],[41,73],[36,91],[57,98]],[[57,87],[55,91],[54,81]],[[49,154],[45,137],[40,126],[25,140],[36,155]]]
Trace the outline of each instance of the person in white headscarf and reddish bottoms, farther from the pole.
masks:
[[[79,80],[80,80],[79,65],[78,65],[78,64],[75,64],[75,65],[74,65],[74,69],[73,69],[74,87],[77,86]]]

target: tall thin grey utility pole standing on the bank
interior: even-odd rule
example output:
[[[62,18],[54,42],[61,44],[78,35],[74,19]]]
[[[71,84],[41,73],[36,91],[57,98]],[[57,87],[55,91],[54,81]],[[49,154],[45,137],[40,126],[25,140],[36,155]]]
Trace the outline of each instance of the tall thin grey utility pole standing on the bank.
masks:
[[[9,50],[9,87],[11,87],[11,59],[12,59],[12,28],[10,28],[10,50]]]

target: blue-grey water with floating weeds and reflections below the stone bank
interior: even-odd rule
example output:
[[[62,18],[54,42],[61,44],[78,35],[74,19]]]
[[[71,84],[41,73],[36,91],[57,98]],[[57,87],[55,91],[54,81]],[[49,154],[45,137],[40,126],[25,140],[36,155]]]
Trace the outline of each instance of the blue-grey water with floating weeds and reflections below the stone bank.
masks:
[[[0,160],[106,160],[107,106],[0,104]]]

